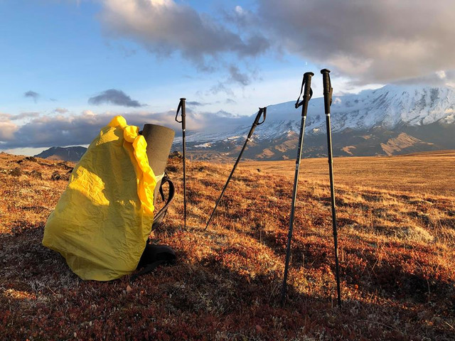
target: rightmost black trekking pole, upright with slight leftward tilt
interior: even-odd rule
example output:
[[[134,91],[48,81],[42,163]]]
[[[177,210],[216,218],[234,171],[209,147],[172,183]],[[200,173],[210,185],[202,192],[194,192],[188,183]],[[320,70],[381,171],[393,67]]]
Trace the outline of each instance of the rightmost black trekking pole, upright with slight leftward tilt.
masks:
[[[328,174],[330,176],[330,195],[332,203],[332,226],[333,226],[333,244],[335,246],[335,271],[336,271],[336,291],[338,295],[338,306],[341,306],[341,289],[340,289],[340,270],[338,266],[338,232],[336,231],[336,211],[335,211],[335,189],[333,188],[333,158],[332,158],[332,131],[330,124],[330,106],[332,104],[333,87],[330,81],[330,70],[321,70],[323,89],[324,89],[324,108],[326,109],[326,126],[327,126],[327,151],[328,151]]]

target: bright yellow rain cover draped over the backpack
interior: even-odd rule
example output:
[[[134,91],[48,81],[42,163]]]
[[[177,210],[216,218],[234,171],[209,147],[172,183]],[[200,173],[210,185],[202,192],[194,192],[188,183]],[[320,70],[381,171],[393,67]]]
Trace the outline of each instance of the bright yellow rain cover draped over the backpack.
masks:
[[[151,232],[155,185],[144,136],[114,117],[73,170],[45,224],[43,245],[82,279],[130,274]]]

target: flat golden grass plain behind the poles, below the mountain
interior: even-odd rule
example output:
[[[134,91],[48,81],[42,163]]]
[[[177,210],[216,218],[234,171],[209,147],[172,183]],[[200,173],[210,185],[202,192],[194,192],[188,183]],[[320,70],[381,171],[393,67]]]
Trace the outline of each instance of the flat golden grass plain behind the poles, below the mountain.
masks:
[[[454,195],[455,151],[433,151],[392,157],[335,158],[336,185],[417,192],[419,195]],[[294,178],[293,161],[248,161],[240,167]],[[301,161],[301,180],[328,182],[327,158]]]

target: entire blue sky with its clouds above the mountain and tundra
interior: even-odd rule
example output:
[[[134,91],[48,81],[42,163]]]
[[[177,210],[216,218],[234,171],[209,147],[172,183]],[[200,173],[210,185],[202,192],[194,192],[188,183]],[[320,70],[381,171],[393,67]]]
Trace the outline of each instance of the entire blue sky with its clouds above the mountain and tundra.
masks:
[[[88,144],[116,114],[173,126],[180,97],[203,129],[295,100],[306,71],[320,97],[323,67],[338,94],[453,85],[453,1],[369,2],[0,0],[0,149]]]

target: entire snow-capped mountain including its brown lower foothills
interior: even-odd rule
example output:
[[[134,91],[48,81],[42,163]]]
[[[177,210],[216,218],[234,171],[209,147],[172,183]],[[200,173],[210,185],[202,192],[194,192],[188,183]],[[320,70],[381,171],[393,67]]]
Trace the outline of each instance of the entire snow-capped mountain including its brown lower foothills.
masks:
[[[254,120],[226,118],[210,130],[187,136],[194,158],[235,157]],[[294,102],[269,105],[245,158],[279,160],[296,157],[301,109]],[[331,105],[336,156],[374,156],[455,148],[455,88],[386,85],[359,94],[334,96]],[[181,140],[176,140],[180,145]],[[326,155],[323,98],[309,102],[304,156]]]

